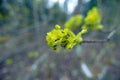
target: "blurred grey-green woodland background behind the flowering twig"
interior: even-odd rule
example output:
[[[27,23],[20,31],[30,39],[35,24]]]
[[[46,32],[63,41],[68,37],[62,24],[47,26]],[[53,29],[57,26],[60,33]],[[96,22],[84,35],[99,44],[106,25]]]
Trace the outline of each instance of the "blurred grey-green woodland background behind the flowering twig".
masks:
[[[85,43],[59,53],[46,33],[97,6],[103,30],[120,27],[120,0],[0,0],[0,80],[120,80],[120,31],[108,43]],[[80,29],[78,29],[80,30]],[[93,32],[86,40],[103,40]]]

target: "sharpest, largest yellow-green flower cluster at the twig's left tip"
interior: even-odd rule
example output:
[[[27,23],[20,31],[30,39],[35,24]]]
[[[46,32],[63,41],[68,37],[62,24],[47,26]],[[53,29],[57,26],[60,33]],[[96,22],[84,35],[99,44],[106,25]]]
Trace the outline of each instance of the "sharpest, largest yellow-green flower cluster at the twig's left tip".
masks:
[[[61,29],[59,25],[56,25],[55,29],[47,33],[46,40],[53,50],[56,50],[58,47],[71,49],[76,44],[82,42],[82,34],[85,32],[83,30],[78,35],[75,35],[68,28]]]

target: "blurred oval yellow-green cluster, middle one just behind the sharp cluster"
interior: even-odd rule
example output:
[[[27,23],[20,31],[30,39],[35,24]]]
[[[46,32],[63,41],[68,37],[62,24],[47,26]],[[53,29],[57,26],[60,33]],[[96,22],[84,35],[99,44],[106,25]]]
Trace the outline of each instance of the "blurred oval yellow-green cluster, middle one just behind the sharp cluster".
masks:
[[[70,30],[74,30],[82,24],[82,19],[82,15],[75,15],[71,17],[70,20],[65,22],[64,27]]]

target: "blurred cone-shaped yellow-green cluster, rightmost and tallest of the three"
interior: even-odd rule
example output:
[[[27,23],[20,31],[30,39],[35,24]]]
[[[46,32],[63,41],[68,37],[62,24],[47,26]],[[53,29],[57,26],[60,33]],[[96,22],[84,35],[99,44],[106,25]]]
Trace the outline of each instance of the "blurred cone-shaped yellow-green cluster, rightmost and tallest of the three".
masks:
[[[103,26],[101,25],[101,16],[96,7],[93,7],[88,11],[87,16],[84,19],[83,28],[88,28],[91,30],[101,30]]]

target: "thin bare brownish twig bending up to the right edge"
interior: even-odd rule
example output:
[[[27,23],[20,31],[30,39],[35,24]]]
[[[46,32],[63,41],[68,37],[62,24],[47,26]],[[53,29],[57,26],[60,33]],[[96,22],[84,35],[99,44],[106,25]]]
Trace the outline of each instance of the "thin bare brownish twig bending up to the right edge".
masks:
[[[114,36],[114,34],[120,29],[120,27],[116,27],[114,30],[112,30],[106,39],[103,40],[83,40],[82,43],[105,43],[110,41],[111,37]]]

